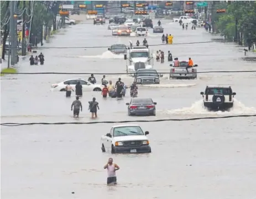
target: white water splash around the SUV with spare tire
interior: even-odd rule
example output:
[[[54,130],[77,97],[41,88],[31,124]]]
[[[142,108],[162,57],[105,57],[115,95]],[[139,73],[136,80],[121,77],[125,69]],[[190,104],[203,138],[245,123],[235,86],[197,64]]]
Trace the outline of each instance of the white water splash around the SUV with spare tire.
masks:
[[[168,111],[169,114],[205,114],[205,115],[211,115],[211,116],[220,116],[220,115],[236,115],[236,114],[255,114],[256,108],[254,107],[246,107],[242,102],[239,102],[238,100],[234,99],[234,106],[229,111],[216,111],[216,112],[210,112],[207,108],[203,106],[203,101],[197,101],[192,104],[191,107],[184,107],[180,109],[174,109]]]

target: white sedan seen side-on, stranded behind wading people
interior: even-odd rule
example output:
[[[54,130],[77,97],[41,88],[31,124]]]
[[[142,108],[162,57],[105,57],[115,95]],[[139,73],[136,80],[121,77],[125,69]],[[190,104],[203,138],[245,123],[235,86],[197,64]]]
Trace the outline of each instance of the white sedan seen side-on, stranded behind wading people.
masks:
[[[77,78],[66,80],[60,83],[54,83],[53,85],[51,85],[51,91],[66,91],[67,83],[70,83],[70,86],[75,91],[77,82],[81,83],[83,91],[102,91],[102,88],[104,87],[103,85],[93,84]]]

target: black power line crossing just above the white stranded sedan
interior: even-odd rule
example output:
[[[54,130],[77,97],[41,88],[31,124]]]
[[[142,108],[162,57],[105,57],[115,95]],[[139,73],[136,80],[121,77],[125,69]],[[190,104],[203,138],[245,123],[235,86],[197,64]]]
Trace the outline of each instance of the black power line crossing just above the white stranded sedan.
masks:
[[[173,68],[171,68],[173,69]],[[169,69],[169,70],[171,70]],[[175,67],[174,67],[175,69]],[[179,69],[179,67],[177,67],[177,69]],[[256,72],[256,70],[246,70],[246,71],[200,71],[200,72],[188,72],[188,74],[207,74],[207,73],[241,73],[241,72]],[[145,74],[155,74],[155,72],[140,72],[141,74],[145,73]],[[13,73],[9,73],[9,72],[1,72],[1,74],[13,74]],[[58,74],[58,75],[90,75],[90,74],[94,74],[94,75],[128,75],[128,74],[136,74],[136,72],[129,72],[124,73],[93,73],[93,72],[17,72],[15,74],[19,74],[19,75],[46,75],[46,74]],[[170,74],[170,72],[159,72],[159,74]]]

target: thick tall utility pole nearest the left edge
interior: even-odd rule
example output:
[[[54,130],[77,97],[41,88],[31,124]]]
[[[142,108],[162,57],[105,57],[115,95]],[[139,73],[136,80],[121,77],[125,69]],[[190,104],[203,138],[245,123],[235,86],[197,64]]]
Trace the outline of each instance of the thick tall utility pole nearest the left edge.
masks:
[[[10,33],[11,33],[11,65],[15,64],[15,28],[14,28],[14,1],[10,2],[11,4],[11,14],[10,14]]]

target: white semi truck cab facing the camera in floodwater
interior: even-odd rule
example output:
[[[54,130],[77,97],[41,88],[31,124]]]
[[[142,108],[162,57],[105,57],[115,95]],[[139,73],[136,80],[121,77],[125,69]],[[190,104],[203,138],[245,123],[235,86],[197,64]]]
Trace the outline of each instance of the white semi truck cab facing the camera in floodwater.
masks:
[[[138,69],[152,69],[154,60],[150,50],[145,46],[134,46],[124,54],[127,74],[132,75]]]

